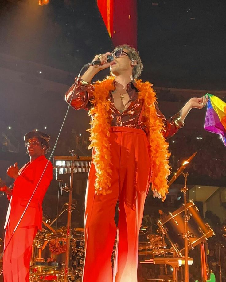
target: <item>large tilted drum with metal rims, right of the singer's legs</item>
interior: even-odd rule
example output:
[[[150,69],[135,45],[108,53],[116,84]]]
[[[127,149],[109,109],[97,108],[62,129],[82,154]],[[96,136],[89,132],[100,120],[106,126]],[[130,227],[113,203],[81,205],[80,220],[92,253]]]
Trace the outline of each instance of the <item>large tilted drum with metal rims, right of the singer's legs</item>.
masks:
[[[160,230],[166,235],[170,243],[174,247],[179,256],[182,256],[185,252],[184,249],[184,206],[180,207],[173,213],[169,213],[168,216],[158,221]],[[215,235],[214,231],[210,228],[208,223],[204,223],[198,214],[199,210],[195,204],[190,201],[187,203],[187,211],[190,216],[188,221],[188,231],[190,238],[188,242],[188,248],[194,249],[199,243],[206,241],[209,237]]]

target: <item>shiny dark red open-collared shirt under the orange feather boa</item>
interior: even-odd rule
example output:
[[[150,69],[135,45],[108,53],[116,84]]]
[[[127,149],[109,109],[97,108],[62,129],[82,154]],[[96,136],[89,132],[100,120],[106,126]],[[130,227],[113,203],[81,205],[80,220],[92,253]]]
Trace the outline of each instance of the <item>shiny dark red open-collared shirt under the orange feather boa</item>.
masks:
[[[65,99],[68,103],[70,102],[74,85],[75,84],[73,84],[65,93]],[[92,85],[83,80],[79,80],[74,96],[72,98],[71,106],[76,110],[89,110],[92,107],[94,87],[95,84]],[[143,99],[138,99],[138,90],[134,81],[131,81],[127,84],[127,93],[129,94],[131,102],[128,108],[121,113],[116,109],[112,93],[109,92],[108,99],[111,102],[109,111],[112,117],[111,126],[123,126],[128,128],[142,129],[146,134],[148,134],[148,129],[145,125],[145,118],[141,117],[141,122],[138,122],[143,107]],[[163,136],[166,139],[173,136],[179,128],[183,127],[183,123],[180,121],[179,113],[175,114],[170,119],[166,119],[159,110],[158,106],[155,105],[155,107],[157,115],[162,119],[164,123],[165,131],[163,132]]]

